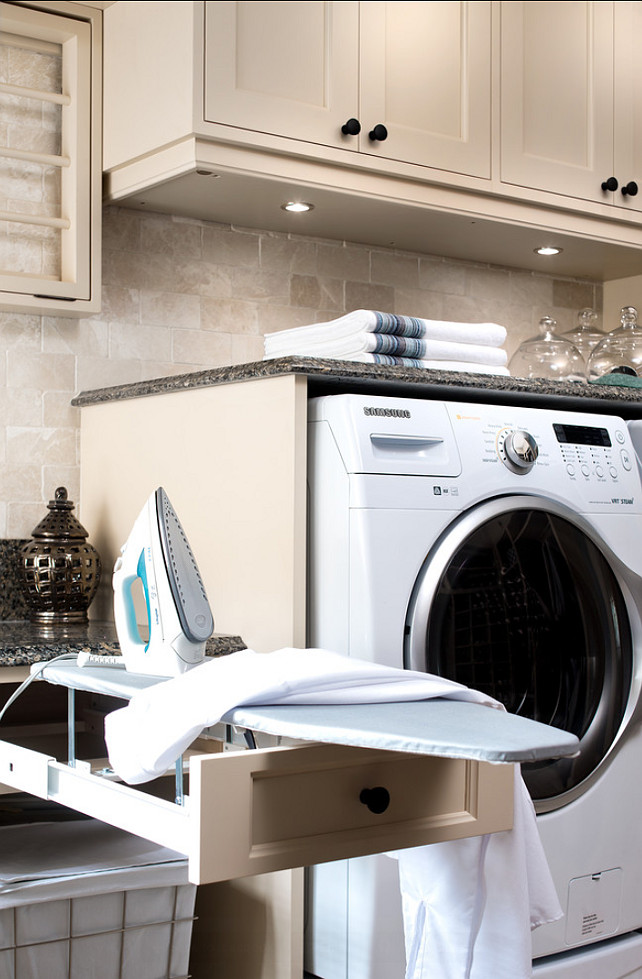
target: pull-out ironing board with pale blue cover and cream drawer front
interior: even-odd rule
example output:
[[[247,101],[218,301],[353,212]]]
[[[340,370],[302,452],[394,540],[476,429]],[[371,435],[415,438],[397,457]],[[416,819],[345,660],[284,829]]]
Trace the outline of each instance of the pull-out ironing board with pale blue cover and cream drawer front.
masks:
[[[72,708],[76,690],[127,701],[162,682],[69,663],[41,676]],[[559,729],[439,699],[237,707],[222,722],[296,743],[193,754],[173,803],[92,771],[72,741],[66,762],[1,741],[0,781],[185,853],[207,883],[509,829],[512,765],[577,751]]]

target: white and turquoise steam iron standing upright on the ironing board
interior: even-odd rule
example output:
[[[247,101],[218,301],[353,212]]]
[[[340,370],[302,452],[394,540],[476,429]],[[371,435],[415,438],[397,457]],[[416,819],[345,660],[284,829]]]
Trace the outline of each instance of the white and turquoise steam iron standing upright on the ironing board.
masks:
[[[140,579],[149,640],[141,638],[132,586]],[[159,486],[138,515],[114,565],[114,619],[131,673],[173,677],[202,662],[214,619],[194,555]]]

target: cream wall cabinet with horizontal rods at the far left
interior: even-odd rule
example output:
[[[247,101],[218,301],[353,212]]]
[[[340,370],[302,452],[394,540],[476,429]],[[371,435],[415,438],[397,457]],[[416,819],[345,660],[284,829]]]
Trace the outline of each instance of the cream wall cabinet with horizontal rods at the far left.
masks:
[[[101,16],[0,3],[0,310],[100,308]]]

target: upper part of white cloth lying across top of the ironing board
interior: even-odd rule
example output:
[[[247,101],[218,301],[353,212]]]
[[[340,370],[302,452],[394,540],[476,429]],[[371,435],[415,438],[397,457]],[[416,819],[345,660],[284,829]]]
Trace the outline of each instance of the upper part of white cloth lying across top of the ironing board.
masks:
[[[135,693],[105,718],[111,767],[130,784],[162,775],[234,707],[258,704],[372,704],[449,697],[501,705],[428,673],[398,670],[324,649],[243,649]]]

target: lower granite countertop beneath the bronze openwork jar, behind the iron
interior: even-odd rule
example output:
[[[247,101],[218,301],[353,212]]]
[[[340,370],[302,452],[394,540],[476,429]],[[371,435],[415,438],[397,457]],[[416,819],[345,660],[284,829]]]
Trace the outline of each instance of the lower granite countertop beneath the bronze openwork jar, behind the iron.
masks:
[[[222,656],[245,649],[240,636],[213,635],[206,656]],[[31,666],[62,653],[88,652],[117,656],[120,646],[111,622],[87,625],[39,626],[28,620],[0,622],[0,666]]]

